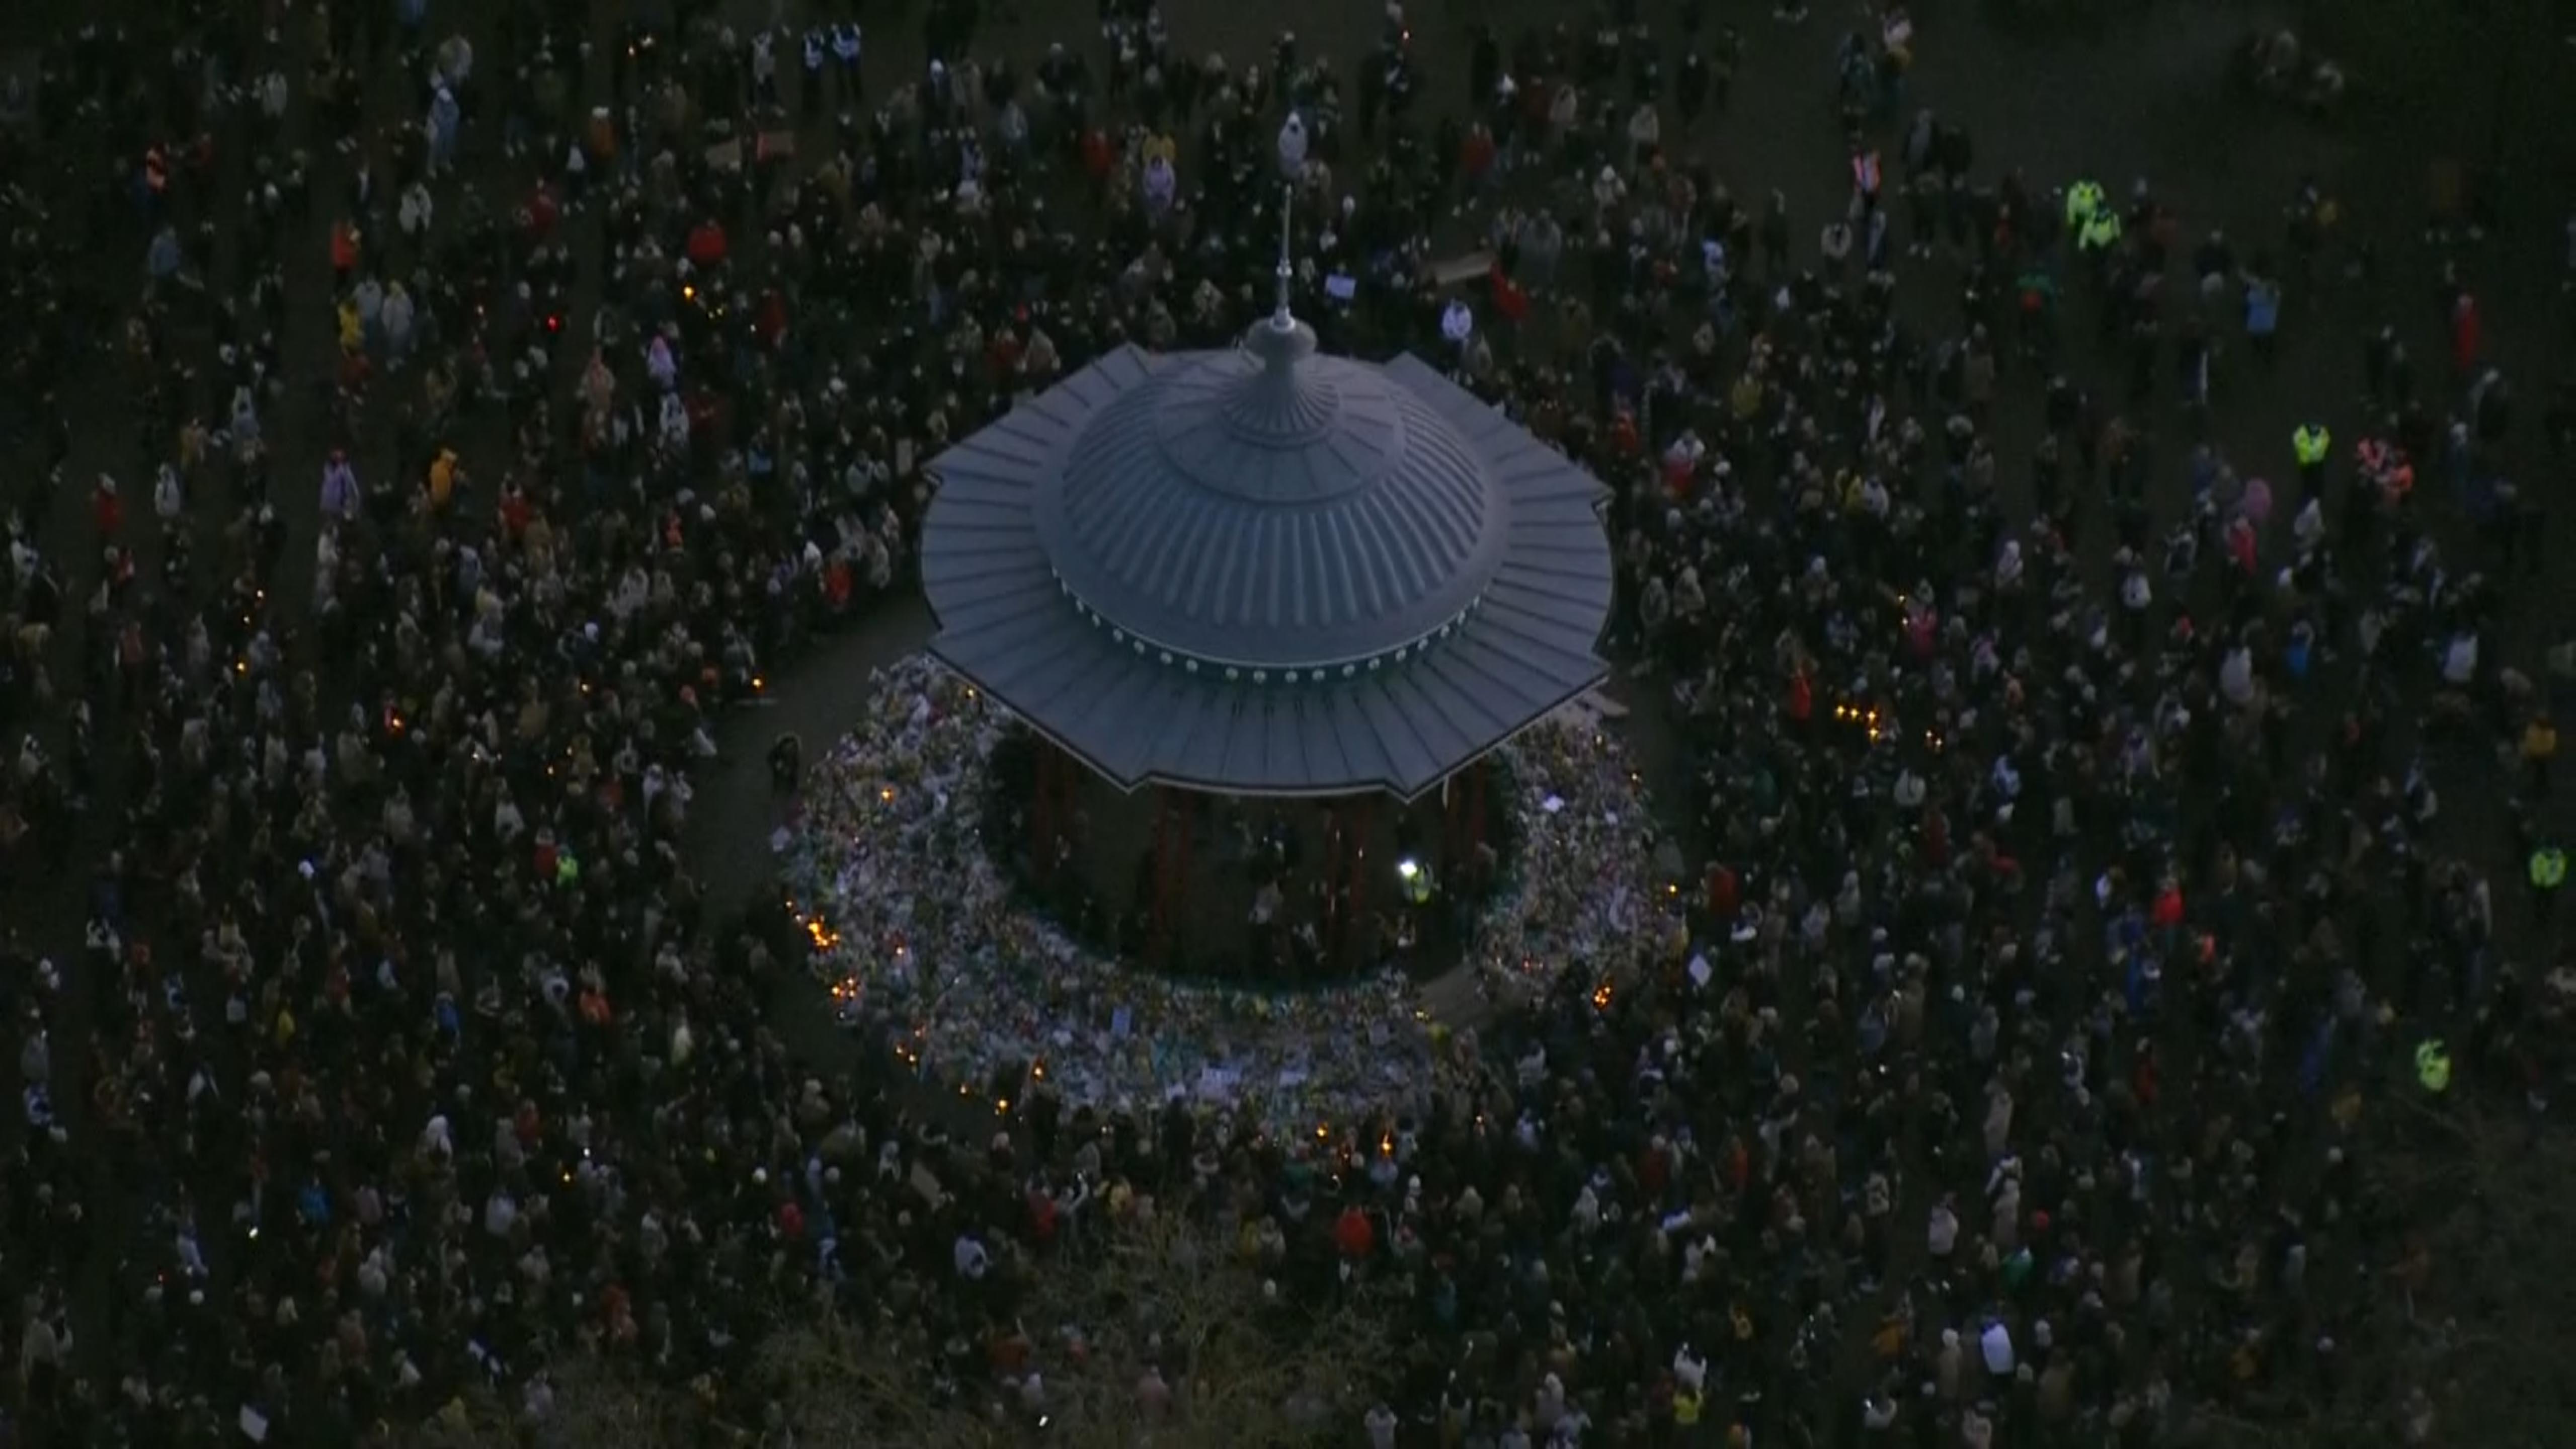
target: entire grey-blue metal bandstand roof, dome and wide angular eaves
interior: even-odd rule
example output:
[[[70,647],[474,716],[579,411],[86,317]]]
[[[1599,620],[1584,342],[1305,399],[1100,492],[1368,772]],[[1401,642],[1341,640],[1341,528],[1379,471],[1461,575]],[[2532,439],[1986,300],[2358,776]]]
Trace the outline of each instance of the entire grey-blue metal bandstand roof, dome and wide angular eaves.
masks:
[[[1600,485],[1285,315],[1108,353],[930,469],[933,652],[1128,789],[1412,797],[1605,676]]]

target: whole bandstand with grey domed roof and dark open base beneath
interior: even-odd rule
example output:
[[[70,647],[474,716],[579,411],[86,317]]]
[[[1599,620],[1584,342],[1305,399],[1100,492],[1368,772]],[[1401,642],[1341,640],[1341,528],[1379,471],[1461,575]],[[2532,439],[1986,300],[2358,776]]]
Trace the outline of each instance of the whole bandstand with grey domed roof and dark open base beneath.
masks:
[[[1499,866],[1497,745],[1607,673],[1602,487],[1321,356],[1285,266],[1239,348],[1113,351],[930,472],[930,650],[1025,727],[1012,853],[1162,964],[1378,964]]]

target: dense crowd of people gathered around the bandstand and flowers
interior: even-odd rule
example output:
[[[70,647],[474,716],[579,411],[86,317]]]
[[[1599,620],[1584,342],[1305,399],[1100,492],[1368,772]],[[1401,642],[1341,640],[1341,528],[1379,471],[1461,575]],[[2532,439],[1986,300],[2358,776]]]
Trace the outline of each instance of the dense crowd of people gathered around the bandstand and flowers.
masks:
[[[1463,54],[1391,13],[1345,70],[1198,59],[1115,0],[1023,72],[943,0],[917,75],[701,10],[183,5],[10,83],[26,1441],[345,1444],[489,1403],[544,1436],[580,1359],[783,1444],[755,1346],[817,1284],[920,1307],[925,1382],[1028,1405],[1079,1364],[951,1289],[1043,1271],[1095,1178],[1113,1217],[1242,1227],[1296,1292],[1404,1299],[1383,1403],[1327,1441],[2128,1446],[2354,1403],[2432,1431],[2437,1385],[2342,1364],[2432,1271],[2370,1124],[2478,1093],[2543,1132],[2576,982],[2576,655],[2509,657],[2540,500],[2465,263],[2450,356],[2393,327],[2295,459],[2231,459],[2223,376],[2295,322],[2331,204],[2244,245],[2146,183],[1999,170],[2009,139],[1906,111],[1937,98],[1896,10],[1832,80],[1850,204],[1814,235],[1692,157],[1759,44],[1698,5]],[[1020,1158],[953,1142],[871,1060],[909,1057],[765,1018],[793,951],[884,944],[912,882],[822,871],[801,931],[739,928],[680,848],[693,768],[907,588],[943,441],[1265,309],[1291,108],[1327,345],[1437,356],[1613,487],[1613,639],[1705,766],[1708,866],[1602,936],[1530,825],[1502,954],[1540,990],[1486,1070],[1298,1101],[1370,1158],[1329,1178],[1267,1109],[1159,1101],[1296,1070],[1231,1016],[1121,1062],[1103,1018],[1185,1006],[1100,967],[1066,1013],[1108,1049],[1033,1016],[984,1052],[1043,1003],[912,936],[963,990],[902,1052],[1092,1060],[1005,1109]],[[1463,286],[1453,211],[1492,242]],[[2012,407],[2043,425],[2007,456]],[[2202,428],[2148,423],[2177,410]],[[858,740],[835,768],[878,779]],[[2452,830],[2437,779],[2512,841]],[[1167,1372],[1139,1415],[1190,1395]]]

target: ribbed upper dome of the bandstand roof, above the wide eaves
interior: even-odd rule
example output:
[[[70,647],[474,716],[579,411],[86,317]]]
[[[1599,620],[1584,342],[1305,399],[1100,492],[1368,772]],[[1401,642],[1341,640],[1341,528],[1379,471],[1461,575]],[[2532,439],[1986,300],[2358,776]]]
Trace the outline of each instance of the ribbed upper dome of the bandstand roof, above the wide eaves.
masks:
[[[1036,526],[1072,603],[1226,678],[1401,660],[1476,608],[1510,534],[1450,420],[1316,356],[1298,322],[1172,358],[1090,418],[1059,477]]]

